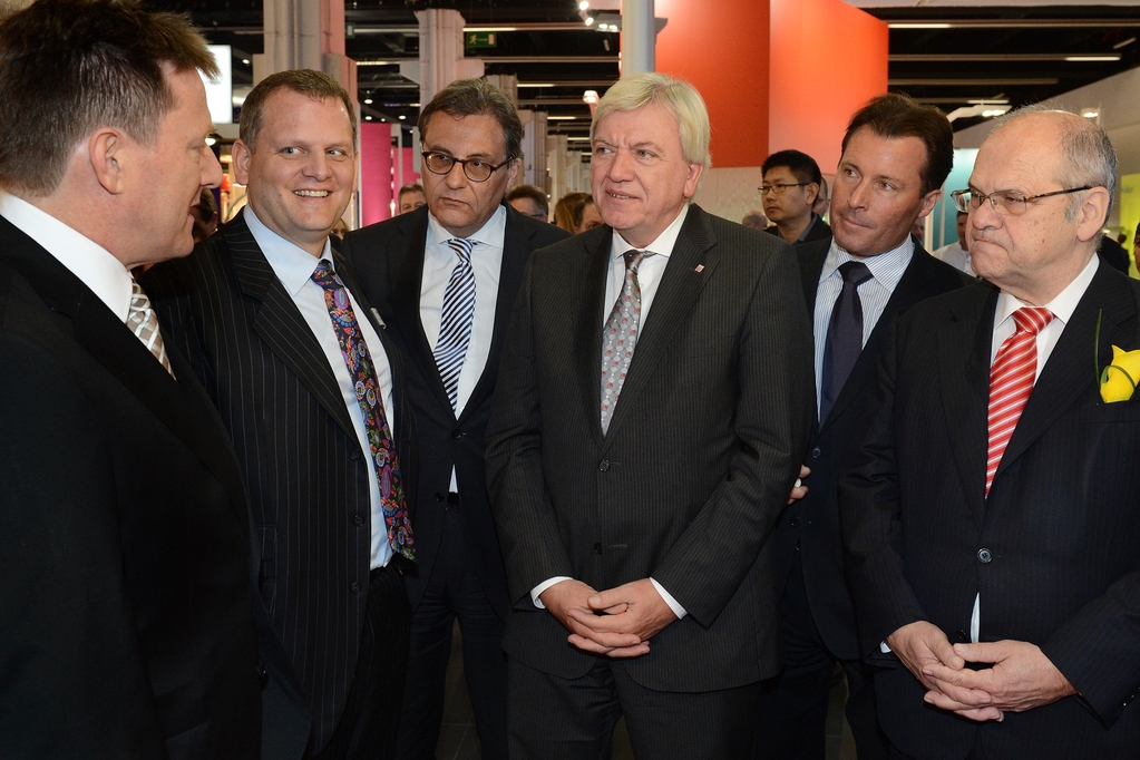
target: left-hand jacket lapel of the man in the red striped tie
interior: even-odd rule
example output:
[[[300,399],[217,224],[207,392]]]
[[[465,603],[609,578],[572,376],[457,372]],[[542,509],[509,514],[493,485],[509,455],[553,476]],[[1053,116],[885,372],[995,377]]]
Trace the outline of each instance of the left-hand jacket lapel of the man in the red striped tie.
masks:
[[[986,490],[990,345],[997,288],[975,286],[971,296],[951,310],[936,352],[954,465],[970,513],[980,528]]]

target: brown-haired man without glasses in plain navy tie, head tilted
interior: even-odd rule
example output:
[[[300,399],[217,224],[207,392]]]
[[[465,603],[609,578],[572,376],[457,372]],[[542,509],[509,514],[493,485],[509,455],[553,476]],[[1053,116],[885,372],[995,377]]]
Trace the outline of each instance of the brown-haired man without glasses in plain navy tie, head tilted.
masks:
[[[837,483],[870,423],[871,381],[889,322],[967,281],[911,237],[914,221],[942,195],[953,163],[946,116],[905,96],[881,96],[852,117],[842,148],[831,206],[834,239],[797,246],[813,312],[816,415],[805,461],[807,496],[776,525],[784,668],[767,685],[757,758],[823,760],[837,662],[847,676],[847,720],[860,758],[887,754],[844,580]],[[845,353],[841,320],[856,310],[862,324]]]

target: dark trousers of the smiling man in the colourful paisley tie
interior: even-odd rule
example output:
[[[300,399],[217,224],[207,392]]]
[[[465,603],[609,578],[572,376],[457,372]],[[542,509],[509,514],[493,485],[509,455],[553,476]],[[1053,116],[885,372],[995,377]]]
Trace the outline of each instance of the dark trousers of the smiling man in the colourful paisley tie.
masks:
[[[332,741],[314,760],[393,757],[412,628],[401,562],[372,571],[352,687]]]

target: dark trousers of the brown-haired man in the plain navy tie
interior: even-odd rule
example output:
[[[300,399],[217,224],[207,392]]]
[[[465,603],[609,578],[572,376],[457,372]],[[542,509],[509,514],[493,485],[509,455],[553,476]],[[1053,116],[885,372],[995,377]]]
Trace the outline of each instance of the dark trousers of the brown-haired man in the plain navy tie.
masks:
[[[784,665],[764,684],[754,760],[823,760],[837,662],[847,677],[847,722],[860,760],[885,760],[889,745],[879,728],[871,668],[858,660],[840,661],[823,643],[807,603],[798,548],[780,599],[780,620]]]

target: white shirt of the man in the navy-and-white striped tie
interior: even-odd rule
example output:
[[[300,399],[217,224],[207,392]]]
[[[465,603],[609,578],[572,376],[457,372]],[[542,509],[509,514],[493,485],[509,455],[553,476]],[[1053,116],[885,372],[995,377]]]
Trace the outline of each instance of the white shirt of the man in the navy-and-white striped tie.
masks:
[[[498,301],[499,272],[503,269],[503,239],[506,234],[506,209],[499,205],[479,231],[470,240],[475,240],[471,251],[471,269],[475,275],[475,316],[471,325],[471,343],[459,369],[456,389],[455,416],[463,414],[471,393],[487,368],[491,353],[491,337],[495,333],[495,304]],[[424,337],[432,351],[439,342],[440,316],[443,311],[443,294],[451,271],[459,262],[447,242],[455,236],[448,232],[431,213],[427,214],[427,239],[424,243],[424,269],[420,283],[420,322]],[[451,491],[459,488],[451,468]]]

